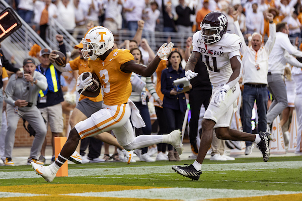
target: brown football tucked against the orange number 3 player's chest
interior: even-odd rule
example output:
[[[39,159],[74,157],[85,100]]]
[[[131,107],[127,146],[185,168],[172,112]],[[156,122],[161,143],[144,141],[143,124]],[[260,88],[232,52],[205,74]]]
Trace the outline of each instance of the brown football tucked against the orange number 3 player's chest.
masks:
[[[88,97],[97,97],[101,91],[101,82],[99,81],[98,76],[91,72],[83,72],[82,74],[82,80],[85,80],[87,77],[92,78],[92,85],[87,87],[82,94]],[[82,89],[80,90],[82,91]],[[81,93],[80,90],[78,91],[79,93]]]

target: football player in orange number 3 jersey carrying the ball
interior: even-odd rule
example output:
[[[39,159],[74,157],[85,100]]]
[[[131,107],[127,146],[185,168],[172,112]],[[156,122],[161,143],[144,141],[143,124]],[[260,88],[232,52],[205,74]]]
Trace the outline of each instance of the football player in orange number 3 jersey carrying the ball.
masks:
[[[147,66],[134,62],[133,55],[129,50],[112,49],[114,45],[113,34],[104,27],[90,29],[82,40],[84,58],[90,58],[89,67],[95,73],[103,91],[104,108],[94,113],[90,118],[79,122],[71,129],[68,140],[63,146],[58,158],[49,166],[31,163],[37,174],[46,181],[51,182],[59,168],[74,152],[80,141],[86,137],[92,137],[100,133],[112,130],[118,143],[128,150],[128,163],[131,162],[134,149],[139,149],[158,143],[169,143],[173,145],[179,154],[182,153],[180,130],[174,130],[168,135],[140,135],[134,138],[130,115],[133,126],[141,128],[144,122],[139,111],[128,99],[131,94],[131,73],[135,72],[142,76],[151,76],[161,59],[167,59],[171,53],[173,43],[166,43],[160,47],[157,56]],[[83,80],[83,74],[78,78],[77,91],[86,90],[92,84],[89,76]]]

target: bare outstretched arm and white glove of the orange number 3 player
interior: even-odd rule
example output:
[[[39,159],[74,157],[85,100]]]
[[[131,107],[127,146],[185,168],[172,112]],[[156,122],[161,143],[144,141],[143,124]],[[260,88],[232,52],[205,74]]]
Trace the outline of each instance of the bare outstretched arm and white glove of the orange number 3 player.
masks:
[[[169,56],[169,54],[172,52],[174,44],[169,43],[168,46],[166,45],[167,43],[160,47],[159,51],[157,52],[157,56],[147,66],[137,64],[132,60],[121,65],[121,70],[127,73],[135,72],[141,76],[150,77],[157,69],[161,59],[165,60],[165,58],[167,58],[167,56]]]

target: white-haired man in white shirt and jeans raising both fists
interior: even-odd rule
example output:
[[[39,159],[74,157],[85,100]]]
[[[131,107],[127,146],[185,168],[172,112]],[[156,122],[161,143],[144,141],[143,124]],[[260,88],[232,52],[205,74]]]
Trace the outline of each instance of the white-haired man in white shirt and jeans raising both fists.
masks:
[[[237,20],[238,12],[233,13],[236,34],[244,41],[243,34],[240,31]],[[254,33],[251,36],[251,45],[247,46],[243,43],[240,49],[243,62],[243,131],[252,133],[251,118],[254,102],[256,99],[258,113],[258,132],[266,131],[266,112],[267,112],[267,72],[268,72],[268,56],[272,51],[276,40],[276,24],[273,23],[273,14],[267,13],[269,20],[269,38],[264,47],[261,47],[262,36]],[[254,145],[252,142],[246,142],[245,154],[252,153]]]

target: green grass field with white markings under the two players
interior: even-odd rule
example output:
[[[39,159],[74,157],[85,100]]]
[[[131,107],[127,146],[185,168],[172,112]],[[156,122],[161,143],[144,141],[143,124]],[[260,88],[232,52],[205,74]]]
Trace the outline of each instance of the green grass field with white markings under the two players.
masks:
[[[193,160],[136,162],[131,164],[122,162],[68,164],[68,177],[56,177],[51,183],[47,183],[41,176],[35,174],[30,165],[0,166],[0,191],[3,192],[2,194],[0,192],[0,197],[13,200],[7,197],[4,192],[8,192],[7,189],[14,189],[10,192],[18,193],[18,187],[16,189],[16,186],[20,185],[39,186],[47,184],[44,193],[49,194],[47,192],[57,184],[93,184],[125,187],[109,191],[103,191],[104,189],[100,189],[100,191],[93,190],[93,192],[87,189],[77,192],[80,194],[76,194],[76,196],[81,196],[83,199],[87,196],[119,196],[141,199],[208,200],[295,194],[294,198],[290,198],[291,201],[302,200],[302,156],[272,157],[266,163],[261,158],[237,158],[235,161],[227,162],[205,160],[202,165],[203,173],[198,181],[183,177],[171,168],[172,165],[190,164],[192,162]],[[133,190],[121,191],[129,189],[129,186],[156,188],[148,189],[147,192],[145,192],[145,189],[135,188],[134,194]],[[62,190],[58,194],[74,196],[70,193],[75,191]],[[29,193],[35,194],[36,192]]]

